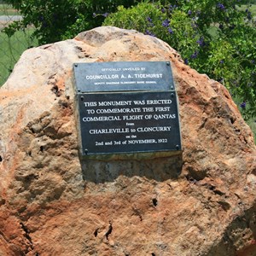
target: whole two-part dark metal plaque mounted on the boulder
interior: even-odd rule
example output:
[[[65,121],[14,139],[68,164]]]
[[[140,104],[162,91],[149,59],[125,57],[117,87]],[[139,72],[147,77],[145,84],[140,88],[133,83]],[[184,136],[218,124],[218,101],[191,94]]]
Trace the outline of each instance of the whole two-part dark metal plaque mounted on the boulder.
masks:
[[[82,155],[181,150],[169,62],[75,64],[74,77]]]

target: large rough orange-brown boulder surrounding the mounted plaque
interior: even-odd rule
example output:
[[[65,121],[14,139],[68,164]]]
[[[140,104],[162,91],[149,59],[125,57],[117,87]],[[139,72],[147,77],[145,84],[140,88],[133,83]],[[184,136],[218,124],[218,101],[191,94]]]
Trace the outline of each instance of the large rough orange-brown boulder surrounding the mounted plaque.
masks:
[[[72,68],[95,61],[172,62],[178,177],[172,157],[79,161]],[[224,86],[159,39],[100,27],[26,50],[0,127],[0,255],[256,255],[252,132]]]

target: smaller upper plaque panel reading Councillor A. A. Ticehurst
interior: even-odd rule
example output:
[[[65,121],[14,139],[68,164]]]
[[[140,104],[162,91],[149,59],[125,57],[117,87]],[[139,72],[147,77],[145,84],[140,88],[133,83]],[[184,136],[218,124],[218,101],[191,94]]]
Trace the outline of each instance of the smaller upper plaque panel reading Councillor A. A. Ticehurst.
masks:
[[[74,64],[77,92],[174,90],[170,62],[94,62]]]

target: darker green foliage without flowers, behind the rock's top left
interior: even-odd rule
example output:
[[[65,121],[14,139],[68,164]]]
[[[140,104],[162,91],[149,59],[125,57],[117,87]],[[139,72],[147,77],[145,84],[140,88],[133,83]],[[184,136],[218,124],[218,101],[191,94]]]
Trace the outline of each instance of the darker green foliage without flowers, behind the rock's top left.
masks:
[[[108,13],[119,5],[129,7],[135,0],[6,0],[20,11],[23,20],[15,21],[5,32],[34,26],[39,44],[72,38],[79,32],[101,26]]]

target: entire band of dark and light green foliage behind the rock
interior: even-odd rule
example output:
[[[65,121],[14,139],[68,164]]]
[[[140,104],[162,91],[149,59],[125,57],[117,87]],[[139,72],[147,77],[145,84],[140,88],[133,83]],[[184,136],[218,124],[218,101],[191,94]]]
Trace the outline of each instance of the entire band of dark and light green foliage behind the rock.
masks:
[[[244,0],[5,2],[19,9],[23,20],[4,31],[11,36],[32,25],[39,44],[73,38],[102,22],[161,38],[186,64],[223,83],[241,101],[245,118],[256,116],[255,17],[239,7]]]

